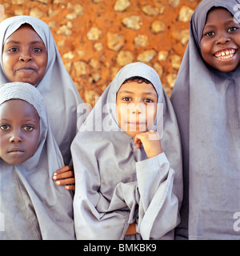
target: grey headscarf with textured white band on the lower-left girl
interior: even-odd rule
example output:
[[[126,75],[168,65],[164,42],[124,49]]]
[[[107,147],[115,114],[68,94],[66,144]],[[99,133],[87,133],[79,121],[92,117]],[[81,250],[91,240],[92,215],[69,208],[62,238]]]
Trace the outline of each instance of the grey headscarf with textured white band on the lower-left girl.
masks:
[[[0,239],[74,239],[72,196],[52,180],[54,171],[64,163],[42,95],[27,83],[0,86],[0,105],[14,98],[37,110],[40,138],[35,154],[21,165],[13,166],[0,158],[0,213],[4,216]]]

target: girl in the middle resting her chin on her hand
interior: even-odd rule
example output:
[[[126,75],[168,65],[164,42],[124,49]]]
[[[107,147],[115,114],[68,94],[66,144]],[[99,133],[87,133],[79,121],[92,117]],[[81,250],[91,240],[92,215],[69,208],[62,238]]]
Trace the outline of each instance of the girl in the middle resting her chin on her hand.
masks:
[[[154,69],[136,62],[118,72],[71,153],[78,239],[174,238],[182,154],[174,111]]]

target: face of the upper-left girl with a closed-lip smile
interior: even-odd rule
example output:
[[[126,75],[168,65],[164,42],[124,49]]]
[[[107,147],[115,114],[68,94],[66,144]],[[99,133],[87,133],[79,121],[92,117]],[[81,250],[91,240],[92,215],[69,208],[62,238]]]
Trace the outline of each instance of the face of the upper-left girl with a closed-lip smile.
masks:
[[[46,46],[32,26],[20,26],[6,39],[2,51],[2,66],[11,82],[35,85],[45,74],[46,65]]]

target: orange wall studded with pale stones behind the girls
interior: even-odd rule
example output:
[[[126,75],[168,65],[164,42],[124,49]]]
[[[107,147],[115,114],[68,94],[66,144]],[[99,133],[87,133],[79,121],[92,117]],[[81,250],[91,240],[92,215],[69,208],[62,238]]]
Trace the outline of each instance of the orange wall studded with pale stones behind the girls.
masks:
[[[201,0],[0,0],[4,18],[31,15],[52,31],[82,99],[95,96],[130,62],[158,72],[170,96]]]

